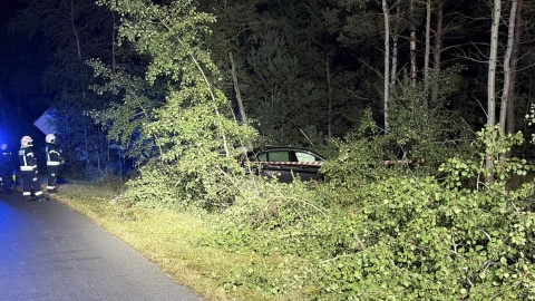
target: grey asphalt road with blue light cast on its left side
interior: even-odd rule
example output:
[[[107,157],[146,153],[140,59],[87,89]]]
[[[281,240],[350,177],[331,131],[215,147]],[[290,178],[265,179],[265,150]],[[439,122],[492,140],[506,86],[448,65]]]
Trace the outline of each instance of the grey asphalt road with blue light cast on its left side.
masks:
[[[0,300],[202,300],[55,201],[0,194]]]

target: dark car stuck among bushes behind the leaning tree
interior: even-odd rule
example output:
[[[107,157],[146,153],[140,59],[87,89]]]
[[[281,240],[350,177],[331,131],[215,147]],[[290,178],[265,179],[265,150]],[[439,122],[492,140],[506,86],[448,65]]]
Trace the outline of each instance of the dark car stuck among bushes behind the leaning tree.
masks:
[[[320,154],[301,147],[266,147],[249,155],[251,173],[276,177],[290,183],[295,177],[301,181],[323,179],[319,173],[325,161]]]

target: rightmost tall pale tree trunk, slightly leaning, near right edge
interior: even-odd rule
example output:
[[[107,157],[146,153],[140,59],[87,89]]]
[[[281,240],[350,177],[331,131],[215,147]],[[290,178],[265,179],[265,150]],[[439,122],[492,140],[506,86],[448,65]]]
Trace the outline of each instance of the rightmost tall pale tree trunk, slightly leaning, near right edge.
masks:
[[[510,12],[509,12],[509,26],[508,26],[508,33],[507,33],[507,48],[505,50],[504,57],[504,89],[502,90],[502,106],[499,108],[499,129],[502,133],[505,133],[505,126],[507,124],[507,108],[508,103],[510,100],[509,91],[514,89],[514,84],[512,81],[512,70],[510,70],[510,56],[513,54],[513,47],[515,45],[515,26],[516,26],[516,8],[517,8],[517,0],[510,1]]]

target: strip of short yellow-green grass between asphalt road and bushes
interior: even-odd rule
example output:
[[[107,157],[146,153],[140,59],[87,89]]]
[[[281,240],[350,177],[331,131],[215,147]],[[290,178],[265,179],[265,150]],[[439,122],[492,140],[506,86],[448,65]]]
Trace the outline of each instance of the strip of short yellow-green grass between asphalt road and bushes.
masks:
[[[294,265],[283,263],[289,261],[288,258],[230,253],[206,246],[202,240],[214,235],[210,222],[216,216],[194,211],[137,208],[120,201],[121,190],[119,183],[113,182],[99,185],[71,182],[61,185],[57,198],[125,241],[207,300],[307,300],[300,289],[288,289],[284,294],[271,293],[244,281],[254,276],[270,283],[272,280],[284,283]],[[264,268],[251,272],[252,266],[260,265]]]

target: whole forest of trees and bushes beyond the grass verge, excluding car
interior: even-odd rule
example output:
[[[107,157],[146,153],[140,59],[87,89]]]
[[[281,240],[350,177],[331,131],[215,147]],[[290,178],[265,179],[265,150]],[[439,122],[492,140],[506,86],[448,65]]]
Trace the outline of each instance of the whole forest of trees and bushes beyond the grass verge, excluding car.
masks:
[[[22,0],[9,28],[46,50],[43,95],[25,101],[56,109],[70,174],[120,176],[139,206],[221,211],[208,243],[299,254],[309,263],[285,285],[320,299],[525,300],[534,11],[526,0]],[[20,118],[10,105],[3,123]],[[264,145],[319,151],[325,182],[245,177],[243,149]],[[372,164],[392,158],[426,164]]]

